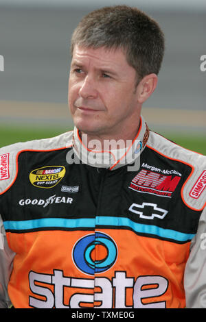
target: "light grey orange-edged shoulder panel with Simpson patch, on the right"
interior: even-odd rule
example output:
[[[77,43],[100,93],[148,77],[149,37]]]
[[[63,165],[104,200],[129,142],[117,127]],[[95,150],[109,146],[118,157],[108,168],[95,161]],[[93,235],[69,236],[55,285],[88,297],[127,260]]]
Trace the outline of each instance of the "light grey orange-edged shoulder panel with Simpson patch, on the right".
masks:
[[[188,207],[203,210],[206,192],[206,157],[176,145],[154,132],[150,132],[147,147],[167,159],[190,166],[192,170],[183,184],[181,197]]]

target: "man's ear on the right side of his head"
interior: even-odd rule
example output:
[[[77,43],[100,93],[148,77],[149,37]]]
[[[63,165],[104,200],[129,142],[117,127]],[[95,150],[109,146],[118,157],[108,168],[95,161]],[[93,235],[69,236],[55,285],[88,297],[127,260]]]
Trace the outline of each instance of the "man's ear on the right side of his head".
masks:
[[[137,86],[137,100],[144,103],[154,92],[157,87],[158,77],[156,74],[146,75]]]

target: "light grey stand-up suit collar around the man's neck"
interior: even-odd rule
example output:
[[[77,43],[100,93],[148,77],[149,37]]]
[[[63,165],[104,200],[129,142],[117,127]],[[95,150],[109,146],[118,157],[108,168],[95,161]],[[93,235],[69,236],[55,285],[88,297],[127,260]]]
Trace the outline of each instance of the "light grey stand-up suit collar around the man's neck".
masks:
[[[136,131],[136,136],[134,135],[132,138],[128,137],[129,147],[126,147],[125,139],[122,140],[124,145],[118,145],[118,140],[109,140],[110,137],[104,136],[103,143],[105,143],[105,139],[108,140],[106,143],[107,146],[105,146],[102,145],[103,138],[98,140],[99,137],[97,136],[89,136],[91,140],[88,140],[88,136],[84,136],[84,133],[82,133],[81,138],[80,132],[75,127],[73,131],[73,152],[77,156],[77,160],[81,160],[83,163],[94,167],[103,167],[110,170],[115,170],[126,164],[133,164],[134,162],[135,166],[137,166],[139,164],[138,160],[140,153],[144,151],[150,134],[144,118],[141,117],[140,120],[141,122],[138,131]],[[84,140],[84,143],[82,142],[82,139]],[[128,171],[134,171],[134,169]]]

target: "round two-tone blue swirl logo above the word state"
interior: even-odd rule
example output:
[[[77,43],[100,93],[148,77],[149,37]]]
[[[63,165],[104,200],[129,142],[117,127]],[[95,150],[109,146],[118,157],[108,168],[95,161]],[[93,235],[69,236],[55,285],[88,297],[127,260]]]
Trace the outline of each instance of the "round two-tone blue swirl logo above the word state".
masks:
[[[114,240],[101,232],[89,234],[73,247],[73,262],[83,273],[94,275],[110,269],[117,259]]]

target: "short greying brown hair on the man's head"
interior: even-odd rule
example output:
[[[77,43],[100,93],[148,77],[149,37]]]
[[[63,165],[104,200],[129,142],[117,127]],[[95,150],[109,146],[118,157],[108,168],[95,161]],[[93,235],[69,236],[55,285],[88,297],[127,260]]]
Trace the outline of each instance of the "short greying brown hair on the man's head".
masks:
[[[71,56],[75,45],[93,49],[122,48],[139,80],[150,73],[159,73],[165,48],[158,23],[128,5],[104,7],[84,16],[71,38]]]

